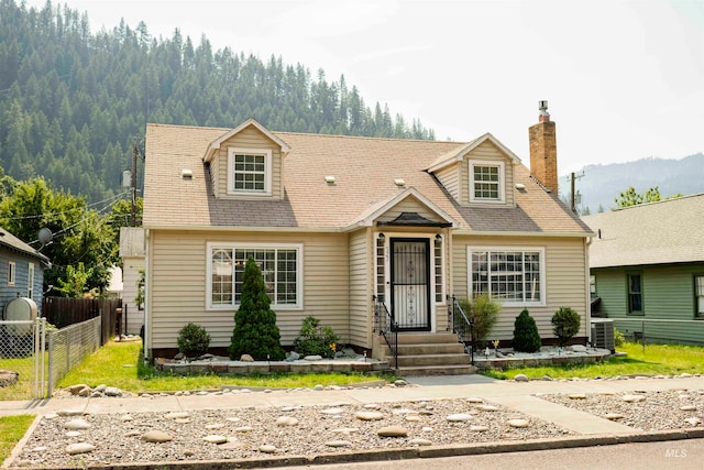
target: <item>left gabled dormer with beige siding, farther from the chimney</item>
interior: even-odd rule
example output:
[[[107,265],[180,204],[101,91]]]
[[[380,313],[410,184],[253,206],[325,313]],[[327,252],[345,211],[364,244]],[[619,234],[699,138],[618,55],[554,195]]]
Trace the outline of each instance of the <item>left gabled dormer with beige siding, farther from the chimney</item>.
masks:
[[[208,145],[212,194],[222,199],[283,199],[284,157],[288,145],[254,119]]]

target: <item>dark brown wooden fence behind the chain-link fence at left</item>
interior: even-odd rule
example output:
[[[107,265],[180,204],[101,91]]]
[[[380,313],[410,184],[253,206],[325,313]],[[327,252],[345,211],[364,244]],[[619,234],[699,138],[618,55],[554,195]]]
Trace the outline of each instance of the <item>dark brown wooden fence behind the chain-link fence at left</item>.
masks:
[[[118,332],[119,308],[122,308],[120,298],[44,297],[42,316],[56,328],[100,317],[100,343],[105,345]]]

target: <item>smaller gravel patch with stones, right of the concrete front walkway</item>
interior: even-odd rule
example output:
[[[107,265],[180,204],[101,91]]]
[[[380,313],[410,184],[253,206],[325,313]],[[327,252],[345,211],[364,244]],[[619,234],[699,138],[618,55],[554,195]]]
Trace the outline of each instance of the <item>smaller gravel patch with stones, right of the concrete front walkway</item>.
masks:
[[[636,389],[625,393],[538,396],[645,431],[702,427],[704,423],[704,390]]]

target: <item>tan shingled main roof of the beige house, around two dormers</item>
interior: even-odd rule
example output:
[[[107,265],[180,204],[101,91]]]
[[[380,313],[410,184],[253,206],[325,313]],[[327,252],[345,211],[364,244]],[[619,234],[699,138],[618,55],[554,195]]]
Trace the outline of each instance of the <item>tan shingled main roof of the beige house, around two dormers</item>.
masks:
[[[289,151],[284,159],[284,199],[216,198],[204,155],[224,135],[232,135],[232,130],[147,124],[145,228],[344,231],[367,219],[399,193],[414,188],[461,231],[581,237],[590,233],[556,196],[547,194],[530,177],[522,164],[514,165],[514,183],[524,185],[515,190],[516,207],[458,204],[426,168],[441,164],[443,157],[452,160],[452,155],[466,153],[476,141],[272,132],[275,142],[285,143]],[[482,139],[490,136],[479,140]],[[193,178],[182,177],[184,168],[193,171]],[[334,184],[326,183],[326,176],[334,176]],[[394,183],[397,178],[405,181],[403,187]]]

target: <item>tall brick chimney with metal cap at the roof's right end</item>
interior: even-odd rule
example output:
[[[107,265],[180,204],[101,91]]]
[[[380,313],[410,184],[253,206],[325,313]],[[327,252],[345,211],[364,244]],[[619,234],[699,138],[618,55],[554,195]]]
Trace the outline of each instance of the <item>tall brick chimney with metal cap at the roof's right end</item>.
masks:
[[[530,139],[530,174],[558,195],[558,140],[554,122],[548,113],[548,101],[538,101],[538,123],[528,129]]]

